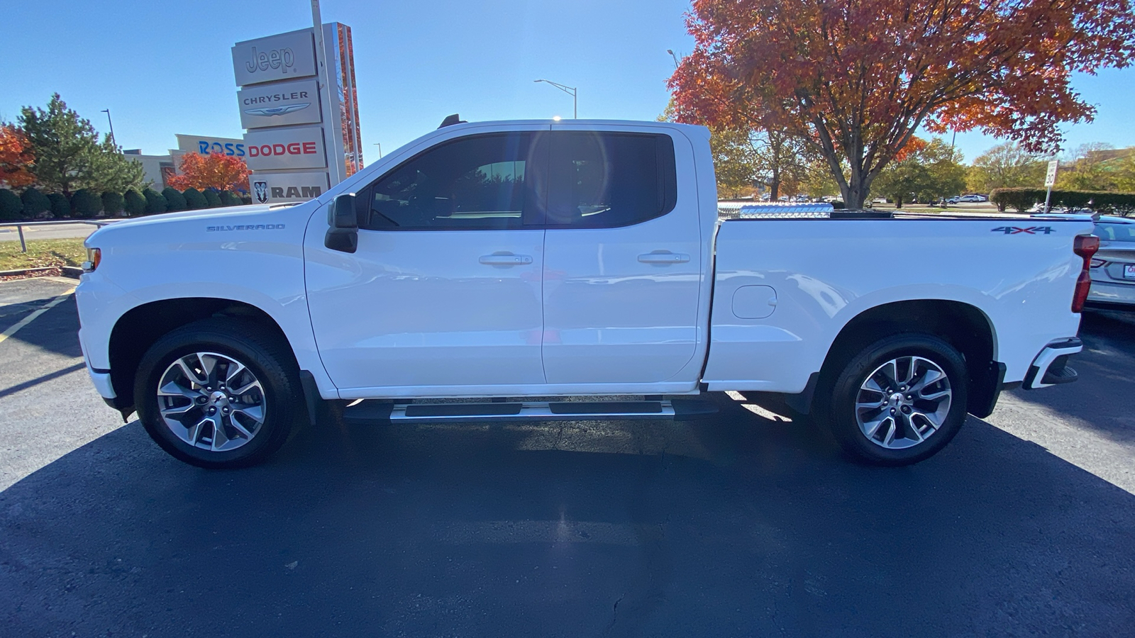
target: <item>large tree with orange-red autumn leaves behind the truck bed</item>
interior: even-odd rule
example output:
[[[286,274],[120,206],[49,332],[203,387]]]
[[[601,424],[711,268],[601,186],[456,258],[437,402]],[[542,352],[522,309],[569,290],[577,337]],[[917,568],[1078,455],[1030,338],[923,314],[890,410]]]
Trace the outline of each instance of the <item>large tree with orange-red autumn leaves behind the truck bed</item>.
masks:
[[[687,26],[679,120],[805,140],[848,208],[920,126],[1056,150],[1095,115],[1071,74],[1135,57],[1128,0],[695,0]]]

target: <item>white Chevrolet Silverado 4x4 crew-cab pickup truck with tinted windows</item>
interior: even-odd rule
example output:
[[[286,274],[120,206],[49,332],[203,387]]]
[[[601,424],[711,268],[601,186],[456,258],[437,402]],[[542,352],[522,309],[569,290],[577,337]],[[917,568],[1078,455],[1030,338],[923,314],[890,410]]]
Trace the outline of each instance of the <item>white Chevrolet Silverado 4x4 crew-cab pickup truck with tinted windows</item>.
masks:
[[[1091,220],[721,221],[716,195],[703,127],[443,126],[312,201],[95,232],[79,341],[111,406],[211,468],[317,413],[689,418],[715,391],[897,465],[1075,379]]]

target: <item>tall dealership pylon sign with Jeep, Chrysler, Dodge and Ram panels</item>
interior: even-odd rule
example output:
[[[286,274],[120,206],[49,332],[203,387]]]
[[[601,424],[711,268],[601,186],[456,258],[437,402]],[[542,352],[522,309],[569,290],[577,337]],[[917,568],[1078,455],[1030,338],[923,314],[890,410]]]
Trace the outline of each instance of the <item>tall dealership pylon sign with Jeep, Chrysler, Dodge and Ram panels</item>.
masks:
[[[303,28],[233,47],[254,202],[309,200],[362,167],[351,27],[322,25],[330,91],[321,90],[313,33]]]

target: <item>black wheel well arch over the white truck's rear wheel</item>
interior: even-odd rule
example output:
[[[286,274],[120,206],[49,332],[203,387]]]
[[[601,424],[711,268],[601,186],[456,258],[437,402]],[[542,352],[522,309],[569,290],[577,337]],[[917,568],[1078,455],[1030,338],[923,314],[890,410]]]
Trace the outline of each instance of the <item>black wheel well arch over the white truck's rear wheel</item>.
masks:
[[[967,411],[977,417],[993,411],[1004,375],[1004,366],[997,361],[993,322],[980,308],[953,300],[896,301],[859,312],[840,328],[829,347],[816,387],[830,387],[864,347],[901,333],[928,333],[957,349],[968,375]]]

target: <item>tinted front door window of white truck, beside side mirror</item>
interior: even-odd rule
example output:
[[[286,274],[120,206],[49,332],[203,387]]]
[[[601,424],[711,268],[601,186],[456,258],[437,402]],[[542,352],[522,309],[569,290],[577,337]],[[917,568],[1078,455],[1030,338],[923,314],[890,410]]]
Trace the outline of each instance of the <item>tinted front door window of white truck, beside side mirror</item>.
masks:
[[[532,215],[532,135],[460,137],[428,149],[375,182],[359,226],[372,230],[519,228]]]

